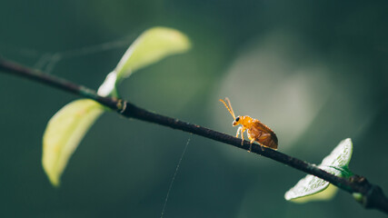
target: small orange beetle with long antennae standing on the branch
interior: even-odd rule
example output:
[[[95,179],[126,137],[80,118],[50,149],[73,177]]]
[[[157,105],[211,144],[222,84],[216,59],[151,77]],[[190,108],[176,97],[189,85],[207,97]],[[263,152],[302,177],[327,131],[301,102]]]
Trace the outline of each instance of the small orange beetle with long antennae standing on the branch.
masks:
[[[220,102],[225,105],[226,109],[228,109],[229,113],[232,114],[232,116],[234,117],[234,122],[232,125],[236,126],[238,124],[241,124],[241,126],[238,127],[235,136],[238,137],[238,135],[241,133],[242,145],[244,144],[244,132],[247,132],[248,139],[251,141],[249,152],[251,152],[252,150],[252,144],[254,144],[254,141],[258,142],[260,146],[262,146],[262,150],[263,146],[277,150],[277,137],[270,127],[263,124],[259,120],[256,120],[247,115],[236,117],[234,115],[232,104],[229,101],[229,98],[226,97],[225,101],[223,99],[220,99]],[[225,102],[228,104],[226,104]]]

